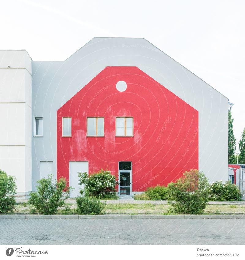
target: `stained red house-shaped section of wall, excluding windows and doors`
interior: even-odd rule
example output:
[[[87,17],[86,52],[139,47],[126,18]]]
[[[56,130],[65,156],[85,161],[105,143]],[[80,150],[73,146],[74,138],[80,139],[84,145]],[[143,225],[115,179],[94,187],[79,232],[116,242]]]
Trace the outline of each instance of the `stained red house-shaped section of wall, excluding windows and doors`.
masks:
[[[118,81],[127,89],[119,92]],[[167,185],[198,169],[198,111],[137,67],[106,67],[57,111],[57,177],[69,161],[88,161],[89,172],[132,161],[132,190]],[[104,137],[86,137],[86,117],[104,117]],[[134,118],[134,137],[115,137],[115,117]],[[72,137],[62,137],[72,117]],[[61,121],[60,121],[61,120]]]

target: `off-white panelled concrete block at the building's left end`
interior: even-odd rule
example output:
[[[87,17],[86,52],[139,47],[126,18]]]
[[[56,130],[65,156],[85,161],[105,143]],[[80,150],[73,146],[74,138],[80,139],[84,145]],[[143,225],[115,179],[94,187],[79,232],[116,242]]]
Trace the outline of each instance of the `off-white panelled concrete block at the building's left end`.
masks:
[[[16,176],[17,195],[31,191],[31,58],[0,51],[0,168]]]

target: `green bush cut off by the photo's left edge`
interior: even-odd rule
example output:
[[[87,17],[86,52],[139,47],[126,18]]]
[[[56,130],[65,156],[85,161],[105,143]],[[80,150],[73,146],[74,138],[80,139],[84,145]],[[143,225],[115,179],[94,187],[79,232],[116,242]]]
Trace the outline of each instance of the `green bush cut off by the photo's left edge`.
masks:
[[[0,213],[13,212],[15,205],[14,194],[17,186],[15,177],[8,176],[0,169]]]

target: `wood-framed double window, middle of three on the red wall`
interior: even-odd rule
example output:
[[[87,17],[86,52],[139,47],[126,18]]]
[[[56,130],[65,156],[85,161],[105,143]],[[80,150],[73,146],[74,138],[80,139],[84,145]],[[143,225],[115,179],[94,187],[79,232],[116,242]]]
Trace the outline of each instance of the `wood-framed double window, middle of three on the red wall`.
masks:
[[[104,136],[104,117],[87,118],[87,136]]]

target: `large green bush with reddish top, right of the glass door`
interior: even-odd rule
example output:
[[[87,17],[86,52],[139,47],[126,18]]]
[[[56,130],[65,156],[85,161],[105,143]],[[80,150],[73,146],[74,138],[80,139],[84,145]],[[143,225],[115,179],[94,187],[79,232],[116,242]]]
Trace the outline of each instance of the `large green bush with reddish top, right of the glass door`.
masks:
[[[208,203],[209,181],[203,172],[190,170],[168,184],[171,213],[200,214]]]

